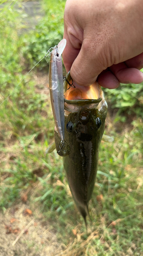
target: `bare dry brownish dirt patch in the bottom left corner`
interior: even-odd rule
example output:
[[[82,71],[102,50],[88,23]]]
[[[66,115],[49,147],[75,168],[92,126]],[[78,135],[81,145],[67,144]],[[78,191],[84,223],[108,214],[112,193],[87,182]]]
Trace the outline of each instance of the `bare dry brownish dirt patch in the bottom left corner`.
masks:
[[[0,256],[54,256],[63,251],[38,209],[20,203],[1,212],[0,219]]]

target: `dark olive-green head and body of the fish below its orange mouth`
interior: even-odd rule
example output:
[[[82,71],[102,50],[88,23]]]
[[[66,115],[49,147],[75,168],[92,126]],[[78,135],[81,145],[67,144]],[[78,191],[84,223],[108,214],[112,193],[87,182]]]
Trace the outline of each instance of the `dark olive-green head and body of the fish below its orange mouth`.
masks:
[[[92,101],[89,100],[89,103]],[[61,151],[60,138],[56,131],[54,136],[56,150],[63,156],[72,196],[86,224],[86,216],[89,216],[88,204],[95,185],[107,103],[102,99],[96,108],[89,109],[87,100],[73,100],[74,105],[76,102],[80,106],[79,110],[65,115],[65,144]]]

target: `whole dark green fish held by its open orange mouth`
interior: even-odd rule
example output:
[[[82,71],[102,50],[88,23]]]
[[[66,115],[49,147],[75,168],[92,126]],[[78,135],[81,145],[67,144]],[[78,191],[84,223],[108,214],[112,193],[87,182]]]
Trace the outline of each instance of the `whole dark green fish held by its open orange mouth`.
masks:
[[[73,82],[70,72],[66,80]],[[63,157],[67,181],[87,226],[89,201],[95,186],[99,145],[104,133],[107,103],[103,91],[96,81],[90,87],[68,88],[65,91],[65,138],[61,148],[61,138],[54,130],[56,151]]]

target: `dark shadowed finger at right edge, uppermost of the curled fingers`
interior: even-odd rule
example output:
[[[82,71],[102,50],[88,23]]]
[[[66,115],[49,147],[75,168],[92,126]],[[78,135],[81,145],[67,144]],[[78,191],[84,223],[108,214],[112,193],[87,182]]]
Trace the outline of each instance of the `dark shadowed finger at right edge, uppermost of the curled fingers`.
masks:
[[[142,69],[143,68],[143,53],[128,59],[125,61],[126,66],[128,68],[136,68],[136,69]]]

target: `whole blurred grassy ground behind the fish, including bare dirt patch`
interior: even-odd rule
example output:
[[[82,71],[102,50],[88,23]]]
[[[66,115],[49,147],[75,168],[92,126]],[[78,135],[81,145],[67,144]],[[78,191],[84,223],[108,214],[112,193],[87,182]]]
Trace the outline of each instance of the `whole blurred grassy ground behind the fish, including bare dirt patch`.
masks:
[[[64,6],[43,0],[32,20],[20,1],[0,11],[0,256],[143,255],[143,84],[104,90],[114,141],[100,145],[88,231],[62,157],[45,154],[54,129],[48,63],[26,74],[62,39]]]

